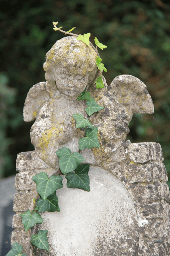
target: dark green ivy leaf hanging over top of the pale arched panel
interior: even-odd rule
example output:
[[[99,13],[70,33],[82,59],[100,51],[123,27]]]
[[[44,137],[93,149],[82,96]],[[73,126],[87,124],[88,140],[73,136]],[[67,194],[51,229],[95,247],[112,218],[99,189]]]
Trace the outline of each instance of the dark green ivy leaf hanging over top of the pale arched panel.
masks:
[[[83,189],[85,191],[90,191],[89,186],[89,164],[78,165],[74,170],[75,172],[69,172],[66,175],[67,179],[67,188]]]

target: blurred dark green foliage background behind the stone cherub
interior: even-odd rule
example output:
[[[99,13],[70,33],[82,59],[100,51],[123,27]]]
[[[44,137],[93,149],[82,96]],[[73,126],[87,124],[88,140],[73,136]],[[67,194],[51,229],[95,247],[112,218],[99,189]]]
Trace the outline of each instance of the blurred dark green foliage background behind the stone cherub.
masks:
[[[161,0],[1,0],[0,49],[2,76],[0,97],[3,176],[15,173],[17,153],[33,150],[32,123],[24,123],[22,112],[28,90],[45,81],[45,54],[64,36],[53,30],[58,21],[76,34],[91,32],[107,45],[100,56],[108,72],[108,85],[121,74],[134,75],[146,85],[154,102],[153,115],[135,114],[127,139],[159,142],[170,178],[170,4]],[[12,90],[11,88],[14,88]],[[16,96],[15,96],[15,93]],[[1,173],[2,175],[2,173]]]

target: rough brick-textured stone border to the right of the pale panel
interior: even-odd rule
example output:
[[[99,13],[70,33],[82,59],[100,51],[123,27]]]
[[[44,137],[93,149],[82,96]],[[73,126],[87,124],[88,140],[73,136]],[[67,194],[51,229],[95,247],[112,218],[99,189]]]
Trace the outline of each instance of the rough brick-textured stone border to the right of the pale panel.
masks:
[[[170,255],[170,194],[162,161],[160,144],[146,142],[128,144],[125,161],[103,164],[119,177],[134,201],[140,234],[138,256]]]

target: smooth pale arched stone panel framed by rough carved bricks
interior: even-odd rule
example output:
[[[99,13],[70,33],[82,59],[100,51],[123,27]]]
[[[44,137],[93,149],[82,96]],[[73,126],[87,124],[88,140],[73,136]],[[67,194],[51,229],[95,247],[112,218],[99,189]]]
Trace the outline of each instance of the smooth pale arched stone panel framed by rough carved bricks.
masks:
[[[89,177],[90,192],[67,188],[64,178],[56,191],[61,212],[41,213],[38,229],[48,230],[50,256],[137,255],[137,215],[129,192],[101,167],[91,166]]]

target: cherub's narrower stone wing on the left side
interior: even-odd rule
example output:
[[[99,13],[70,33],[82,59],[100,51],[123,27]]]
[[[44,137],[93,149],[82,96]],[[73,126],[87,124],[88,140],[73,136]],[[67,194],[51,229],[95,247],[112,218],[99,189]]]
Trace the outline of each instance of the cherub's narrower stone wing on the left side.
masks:
[[[23,119],[25,122],[34,121],[40,108],[50,99],[45,84],[46,82],[37,83],[29,90],[23,107]]]

